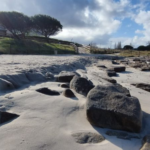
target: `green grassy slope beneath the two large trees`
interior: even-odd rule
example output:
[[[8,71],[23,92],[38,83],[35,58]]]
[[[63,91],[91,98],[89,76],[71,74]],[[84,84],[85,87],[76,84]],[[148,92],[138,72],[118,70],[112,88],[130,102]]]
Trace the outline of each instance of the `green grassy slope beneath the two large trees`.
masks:
[[[57,50],[58,54],[75,53],[70,45],[0,38],[0,53],[4,54],[54,54],[55,50]]]

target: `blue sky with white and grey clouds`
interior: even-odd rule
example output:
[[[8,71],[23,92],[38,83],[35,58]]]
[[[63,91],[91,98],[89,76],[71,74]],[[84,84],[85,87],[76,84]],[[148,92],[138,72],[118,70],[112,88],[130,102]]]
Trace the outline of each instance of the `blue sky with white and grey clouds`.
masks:
[[[1,0],[0,11],[57,18],[63,31],[53,38],[100,47],[137,47],[150,41],[150,0]]]

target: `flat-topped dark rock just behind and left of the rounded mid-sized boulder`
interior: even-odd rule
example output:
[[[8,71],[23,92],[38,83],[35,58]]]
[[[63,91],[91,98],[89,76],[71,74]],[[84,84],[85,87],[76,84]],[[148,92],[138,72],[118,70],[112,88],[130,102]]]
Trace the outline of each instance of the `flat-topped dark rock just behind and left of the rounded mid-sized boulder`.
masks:
[[[57,82],[70,82],[75,75],[79,76],[79,74],[76,72],[63,71],[63,72],[60,72],[59,75],[56,77],[56,81]]]

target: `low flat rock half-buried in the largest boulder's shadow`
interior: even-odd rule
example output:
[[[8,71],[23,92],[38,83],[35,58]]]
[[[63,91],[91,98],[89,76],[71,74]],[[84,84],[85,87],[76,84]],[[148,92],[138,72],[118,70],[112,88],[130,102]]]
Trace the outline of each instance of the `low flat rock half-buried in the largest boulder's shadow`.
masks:
[[[132,138],[140,139],[141,137],[137,134],[129,134],[127,132],[121,132],[121,131],[112,131],[108,130],[106,132],[107,135],[109,136],[117,136],[119,139],[125,139],[125,140],[130,140]]]

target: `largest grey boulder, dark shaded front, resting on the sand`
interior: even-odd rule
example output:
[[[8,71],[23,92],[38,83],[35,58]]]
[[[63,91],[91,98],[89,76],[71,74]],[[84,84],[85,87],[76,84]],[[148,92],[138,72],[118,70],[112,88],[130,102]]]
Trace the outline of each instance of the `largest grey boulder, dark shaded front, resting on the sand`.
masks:
[[[139,100],[115,86],[96,86],[87,96],[87,118],[92,125],[140,132],[142,111]]]

